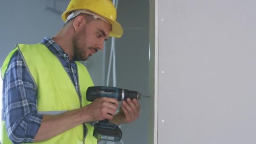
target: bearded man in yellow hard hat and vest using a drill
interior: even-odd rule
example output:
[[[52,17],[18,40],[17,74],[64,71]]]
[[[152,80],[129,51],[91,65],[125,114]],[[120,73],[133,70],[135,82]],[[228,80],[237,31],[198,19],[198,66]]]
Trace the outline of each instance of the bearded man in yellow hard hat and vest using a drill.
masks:
[[[120,125],[139,117],[136,99],[123,101],[116,115],[115,98],[86,101],[93,86],[84,61],[103,49],[109,36],[121,37],[110,0],[71,0],[64,27],[34,45],[19,44],[4,61],[3,144],[96,144],[89,122]]]

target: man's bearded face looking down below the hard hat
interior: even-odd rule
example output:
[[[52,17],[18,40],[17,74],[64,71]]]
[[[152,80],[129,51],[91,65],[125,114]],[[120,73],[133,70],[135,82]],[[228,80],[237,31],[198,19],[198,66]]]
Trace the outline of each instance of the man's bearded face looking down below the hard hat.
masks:
[[[104,47],[109,37],[110,26],[102,20],[92,20],[85,24],[74,36],[74,58],[85,61]]]

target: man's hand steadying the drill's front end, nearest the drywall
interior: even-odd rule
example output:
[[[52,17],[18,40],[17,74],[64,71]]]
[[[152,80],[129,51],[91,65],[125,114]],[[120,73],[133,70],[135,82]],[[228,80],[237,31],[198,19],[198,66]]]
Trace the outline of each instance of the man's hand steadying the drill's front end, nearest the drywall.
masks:
[[[114,116],[110,123],[120,125],[122,123],[130,123],[136,120],[141,111],[141,106],[137,99],[131,100],[130,98],[126,101],[122,101],[119,112]]]

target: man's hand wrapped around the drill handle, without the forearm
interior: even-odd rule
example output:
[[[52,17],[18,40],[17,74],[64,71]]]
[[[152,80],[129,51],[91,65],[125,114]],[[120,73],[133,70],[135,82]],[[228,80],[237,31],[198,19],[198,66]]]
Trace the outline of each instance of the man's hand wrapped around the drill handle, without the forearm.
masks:
[[[83,107],[82,117],[86,122],[112,120],[118,104],[115,98],[102,97],[95,99],[91,104]]]

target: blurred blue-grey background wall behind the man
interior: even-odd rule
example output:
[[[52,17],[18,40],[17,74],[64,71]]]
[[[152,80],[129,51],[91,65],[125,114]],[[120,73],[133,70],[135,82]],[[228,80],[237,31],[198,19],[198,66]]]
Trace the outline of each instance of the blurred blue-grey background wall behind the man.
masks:
[[[68,3],[69,0],[56,0],[56,10],[64,11]],[[0,1],[0,65],[16,43],[39,43],[43,37],[53,37],[61,29],[61,16],[49,11],[47,7],[53,8],[53,0]],[[123,37],[116,39],[117,87],[148,95],[149,1],[119,0],[117,11],[117,21],[124,29]],[[83,62],[95,85],[102,85],[102,81],[106,81],[103,79],[102,64],[106,62],[107,72],[110,42],[109,38],[106,43],[106,59],[103,59],[103,52],[99,51]],[[112,80],[112,76],[110,78]],[[140,102],[139,119],[121,126],[122,141],[125,144],[148,143],[149,99],[141,99]]]

